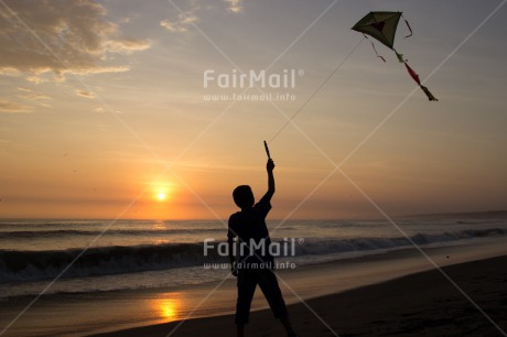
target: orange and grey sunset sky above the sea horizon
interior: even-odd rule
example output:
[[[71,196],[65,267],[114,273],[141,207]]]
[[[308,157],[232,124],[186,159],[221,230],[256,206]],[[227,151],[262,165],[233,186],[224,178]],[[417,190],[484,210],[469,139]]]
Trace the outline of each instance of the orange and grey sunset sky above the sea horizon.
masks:
[[[0,0],[0,218],[227,219],[263,140],[271,218],[507,209],[504,2]]]

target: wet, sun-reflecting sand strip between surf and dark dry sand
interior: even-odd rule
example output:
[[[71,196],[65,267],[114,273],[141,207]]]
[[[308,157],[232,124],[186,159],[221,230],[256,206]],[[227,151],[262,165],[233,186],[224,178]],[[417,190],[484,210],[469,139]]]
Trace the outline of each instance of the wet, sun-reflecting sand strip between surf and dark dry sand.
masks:
[[[505,260],[499,261],[507,267],[506,241],[507,238],[488,239],[474,244],[428,248],[424,249],[424,252],[439,267],[455,265],[476,260],[486,261],[484,263],[489,264],[487,261],[494,257],[504,257]],[[285,302],[290,305],[289,312],[293,316],[292,307],[302,305],[300,298],[304,298],[308,303],[316,301],[315,305],[319,306],[321,302],[330,302],[325,298],[344,296],[343,294],[376,287],[386,282],[397,282],[400,278],[412,274],[418,275],[432,269],[434,267],[419,251],[408,249],[322,264],[303,265],[296,270],[278,271],[278,274]],[[503,268],[503,270],[507,270],[507,268]],[[444,280],[442,275],[439,275],[439,278]],[[450,284],[447,281],[445,282]],[[206,297],[217,285],[217,290],[209,297]],[[401,287],[409,289],[410,286],[410,284],[404,284]],[[504,289],[506,287],[507,285],[504,283]],[[488,285],[484,284],[483,289],[487,290]],[[358,297],[360,297],[360,294]],[[204,298],[206,301],[203,302]],[[30,300],[23,298],[23,301],[20,301],[20,298],[13,298],[12,301],[0,302],[2,306],[2,311],[0,311],[0,318],[3,322],[2,328]],[[367,303],[367,301],[368,298],[360,300],[363,303]],[[325,307],[332,307],[335,302],[341,303],[342,300],[337,298],[327,303],[321,309],[323,317],[333,317],[333,313],[325,309]],[[88,336],[111,331],[112,335],[106,336],[122,336],[123,334],[131,334],[129,331],[132,331],[132,329],[138,331],[138,335],[130,336],[159,336],[160,334],[157,329],[163,329],[164,334],[161,334],[161,336],[166,336],[169,326],[179,324],[179,320],[181,322],[187,317],[191,319],[182,324],[182,327],[195,325],[195,328],[198,328],[203,324],[206,325],[205,322],[209,322],[231,333],[234,330],[234,319],[230,314],[234,314],[235,303],[236,279],[234,278],[229,278],[223,284],[207,282],[197,285],[164,289],[47,295],[41,297],[3,336]],[[378,304],[374,305],[378,306]],[[504,306],[507,306],[507,303]],[[254,317],[260,315],[259,317],[263,318],[259,318],[260,323],[257,318],[256,323],[251,320],[250,329],[258,325],[266,325],[265,328],[268,330],[279,328],[279,324],[272,318],[271,313],[266,311],[267,307],[266,300],[258,290],[252,303],[251,317],[254,319]],[[304,320],[308,313],[310,313],[309,309],[303,307],[303,313],[296,314],[293,317],[293,322],[300,323]],[[505,314],[507,317],[507,313]],[[330,319],[339,320],[342,318]],[[159,324],[162,324],[162,326],[159,326]],[[322,323],[320,324],[322,325]],[[299,325],[294,325],[299,328]],[[207,329],[209,328],[208,326]],[[145,330],[141,333],[141,330],[137,329]],[[300,331],[303,333],[303,330]],[[272,336],[279,336],[279,333]],[[337,333],[342,336],[339,330]],[[181,336],[193,336],[188,334],[186,329],[182,329]],[[250,334],[250,336],[258,335],[260,334]],[[320,336],[314,333],[302,335]],[[180,336],[180,333],[172,336]],[[201,333],[201,335],[196,334],[195,336],[206,336],[206,334],[202,335]],[[230,336],[234,336],[234,334],[230,334]]]

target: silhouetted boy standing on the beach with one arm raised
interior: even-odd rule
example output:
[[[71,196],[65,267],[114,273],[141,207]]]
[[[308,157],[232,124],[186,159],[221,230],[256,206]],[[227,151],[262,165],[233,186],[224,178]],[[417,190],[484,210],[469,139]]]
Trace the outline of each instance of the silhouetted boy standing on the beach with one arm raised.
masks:
[[[266,164],[268,171],[268,192],[255,204],[250,186],[241,185],[234,189],[233,197],[240,211],[229,218],[227,238],[229,242],[229,258],[233,274],[238,278],[238,300],[236,303],[237,336],[245,336],[245,325],[248,323],[251,300],[257,285],[265,294],[266,300],[274,314],[285,328],[288,336],[298,336],[289,320],[289,315],[283,301],[278,280],[272,271],[273,257],[269,253],[271,240],[266,216],[271,209],[271,197],[274,194],[274,163],[270,159]],[[234,238],[237,237],[238,261],[233,251]],[[241,248],[242,247],[242,248]],[[238,248],[238,247],[237,247]]]

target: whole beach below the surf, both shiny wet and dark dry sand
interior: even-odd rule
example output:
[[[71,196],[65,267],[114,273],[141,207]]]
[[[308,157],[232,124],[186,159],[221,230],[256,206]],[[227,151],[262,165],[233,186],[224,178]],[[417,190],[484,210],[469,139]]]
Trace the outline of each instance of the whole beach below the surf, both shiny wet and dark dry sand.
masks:
[[[500,329],[507,329],[507,238],[425,248],[424,253]],[[303,337],[505,336],[427,257],[408,249],[277,273]],[[109,331],[117,333],[108,336],[234,336],[236,280],[227,270],[224,275],[229,278],[223,283],[47,295],[25,312],[32,296],[2,300],[2,337]],[[257,291],[248,336],[283,336],[267,307]]]

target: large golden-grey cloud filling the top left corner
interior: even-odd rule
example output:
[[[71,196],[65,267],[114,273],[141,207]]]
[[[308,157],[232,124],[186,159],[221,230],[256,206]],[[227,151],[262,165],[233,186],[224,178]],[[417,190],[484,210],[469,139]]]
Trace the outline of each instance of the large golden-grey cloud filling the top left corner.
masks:
[[[34,83],[64,80],[65,74],[126,72],[111,54],[130,54],[150,42],[122,36],[91,0],[4,0],[0,10],[0,74],[25,74]],[[48,79],[47,74],[55,74]]]

